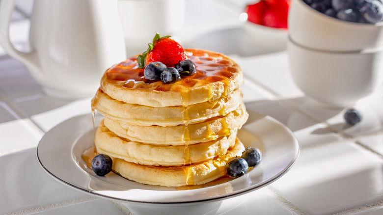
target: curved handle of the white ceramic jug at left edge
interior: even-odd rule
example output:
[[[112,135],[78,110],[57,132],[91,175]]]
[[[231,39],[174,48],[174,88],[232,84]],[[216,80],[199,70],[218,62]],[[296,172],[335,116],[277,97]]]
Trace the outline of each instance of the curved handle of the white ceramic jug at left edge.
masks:
[[[19,52],[13,47],[9,39],[9,24],[14,6],[15,0],[2,0],[0,2],[0,44],[7,54],[24,63],[34,78],[41,80],[43,74],[36,51],[30,53]]]

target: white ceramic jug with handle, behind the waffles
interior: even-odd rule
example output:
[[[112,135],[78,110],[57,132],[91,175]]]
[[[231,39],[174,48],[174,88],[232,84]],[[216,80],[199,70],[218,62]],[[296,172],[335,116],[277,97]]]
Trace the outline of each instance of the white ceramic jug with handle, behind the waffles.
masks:
[[[1,1],[0,43],[50,96],[92,96],[105,70],[126,58],[117,0],[34,0],[30,53],[17,51],[9,40],[14,4]]]

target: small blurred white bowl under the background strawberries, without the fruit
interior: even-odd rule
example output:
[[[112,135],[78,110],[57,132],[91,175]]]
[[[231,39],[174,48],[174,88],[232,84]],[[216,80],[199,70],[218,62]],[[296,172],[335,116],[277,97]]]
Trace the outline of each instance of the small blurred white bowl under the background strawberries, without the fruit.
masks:
[[[247,14],[245,14],[246,13],[244,12],[240,15],[240,20],[252,40],[276,48],[286,48],[288,36],[287,29],[267,27],[252,23],[247,20]]]

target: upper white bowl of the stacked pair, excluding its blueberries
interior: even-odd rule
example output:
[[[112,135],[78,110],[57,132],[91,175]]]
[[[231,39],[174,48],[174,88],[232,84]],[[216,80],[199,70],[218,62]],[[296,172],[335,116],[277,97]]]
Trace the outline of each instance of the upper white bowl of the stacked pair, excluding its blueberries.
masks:
[[[338,20],[316,11],[303,0],[292,0],[288,26],[290,38],[311,49],[350,52],[383,46],[383,22]]]

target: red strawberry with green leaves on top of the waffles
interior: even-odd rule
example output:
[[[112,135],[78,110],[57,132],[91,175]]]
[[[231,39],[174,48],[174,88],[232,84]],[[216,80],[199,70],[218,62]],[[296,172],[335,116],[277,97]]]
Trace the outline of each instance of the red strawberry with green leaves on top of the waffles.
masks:
[[[148,49],[137,57],[138,67],[144,68],[145,65],[156,61],[164,63],[167,67],[174,67],[178,62],[189,59],[184,48],[169,37],[161,37],[156,33],[153,44],[149,43]]]

